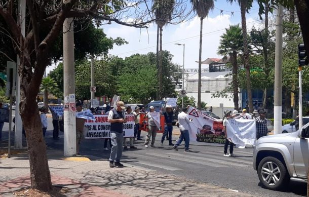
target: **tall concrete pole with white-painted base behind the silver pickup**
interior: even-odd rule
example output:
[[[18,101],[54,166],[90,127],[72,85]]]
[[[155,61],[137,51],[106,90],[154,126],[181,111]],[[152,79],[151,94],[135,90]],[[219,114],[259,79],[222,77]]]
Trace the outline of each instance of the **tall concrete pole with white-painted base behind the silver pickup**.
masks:
[[[282,19],[283,6],[279,5],[276,17],[274,134],[282,133]]]

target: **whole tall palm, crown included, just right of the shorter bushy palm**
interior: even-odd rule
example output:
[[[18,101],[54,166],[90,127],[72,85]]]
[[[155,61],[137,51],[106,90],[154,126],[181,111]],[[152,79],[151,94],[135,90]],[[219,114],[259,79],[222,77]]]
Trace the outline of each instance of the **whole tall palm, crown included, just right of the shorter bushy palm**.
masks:
[[[246,68],[246,84],[247,84],[247,93],[248,93],[248,104],[249,111],[253,111],[253,102],[252,102],[252,91],[250,83],[250,65],[249,65],[249,49],[248,49],[248,35],[247,35],[247,24],[246,24],[246,12],[252,7],[253,0],[226,0],[233,4],[233,2],[238,2],[241,10],[242,17],[242,30],[243,30],[243,39],[244,39],[244,66]]]

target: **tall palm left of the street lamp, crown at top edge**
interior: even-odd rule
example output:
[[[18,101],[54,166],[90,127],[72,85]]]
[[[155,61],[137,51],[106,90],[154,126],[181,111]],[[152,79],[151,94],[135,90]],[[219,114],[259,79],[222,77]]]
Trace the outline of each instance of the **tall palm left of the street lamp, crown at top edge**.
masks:
[[[152,11],[155,12],[156,16],[156,23],[159,27],[159,33],[160,33],[160,55],[159,55],[159,72],[158,72],[158,78],[159,78],[159,98],[163,98],[163,70],[162,70],[162,31],[163,26],[165,26],[168,22],[172,20],[172,13],[175,6],[175,0],[154,0],[152,5]],[[158,34],[158,31],[157,31]],[[158,49],[158,35],[157,35],[157,49]],[[158,52],[158,50],[157,50]],[[158,57],[158,56],[157,56]]]

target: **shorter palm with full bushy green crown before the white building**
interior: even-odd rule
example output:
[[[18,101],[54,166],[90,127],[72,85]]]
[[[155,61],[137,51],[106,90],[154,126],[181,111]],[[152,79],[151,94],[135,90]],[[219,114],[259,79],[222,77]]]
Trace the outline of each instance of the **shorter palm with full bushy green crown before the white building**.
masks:
[[[223,59],[227,59],[227,56],[229,56],[230,62],[233,66],[233,101],[235,109],[238,109],[237,55],[243,51],[242,29],[239,27],[239,24],[230,25],[228,29],[225,28],[225,33],[220,37],[218,55],[223,55]]]

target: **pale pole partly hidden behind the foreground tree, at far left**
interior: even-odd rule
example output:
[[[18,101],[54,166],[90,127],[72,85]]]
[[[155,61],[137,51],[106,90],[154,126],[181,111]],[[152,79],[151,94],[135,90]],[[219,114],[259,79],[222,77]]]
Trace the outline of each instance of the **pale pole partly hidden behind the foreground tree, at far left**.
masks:
[[[19,25],[21,28],[21,34],[25,37],[26,32],[26,0],[18,1],[18,13],[19,13]],[[18,74],[18,67],[20,64],[19,56],[17,56],[16,61],[16,108],[15,108],[15,139],[14,139],[14,148],[22,148],[22,120],[19,114],[19,103],[20,103],[20,78]]]

